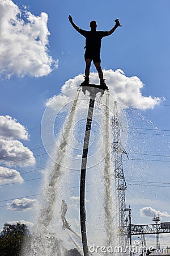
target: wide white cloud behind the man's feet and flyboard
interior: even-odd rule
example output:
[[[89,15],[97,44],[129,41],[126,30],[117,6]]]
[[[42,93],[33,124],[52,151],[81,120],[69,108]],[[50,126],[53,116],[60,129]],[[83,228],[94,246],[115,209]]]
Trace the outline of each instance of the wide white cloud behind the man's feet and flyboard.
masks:
[[[143,96],[141,90],[145,85],[137,76],[128,77],[121,69],[116,71],[109,69],[103,72],[110,94],[114,100],[120,102],[122,108],[153,109],[155,105],[159,105],[164,100],[159,97]],[[78,75],[66,81],[61,88],[61,94],[54,95],[46,101],[46,106],[50,103],[51,108],[60,110],[67,102],[73,100],[75,93],[70,89],[78,87],[82,80],[83,76]],[[97,73],[90,74],[90,81],[91,84],[99,84]]]

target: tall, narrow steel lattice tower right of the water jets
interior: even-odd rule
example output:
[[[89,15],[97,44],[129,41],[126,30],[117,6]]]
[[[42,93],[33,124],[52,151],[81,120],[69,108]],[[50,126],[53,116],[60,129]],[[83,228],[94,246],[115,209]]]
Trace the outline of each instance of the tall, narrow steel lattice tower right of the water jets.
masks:
[[[122,236],[125,234],[125,227],[127,225],[126,222],[126,201],[125,201],[125,190],[126,181],[124,176],[124,170],[122,165],[122,154],[126,153],[125,149],[122,147],[121,144],[121,129],[122,125],[120,119],[118,117],[118,110],[117,110],[117,102],[114,102],[114,112],[113,117],[111,118],[111,128],[112,128],[112,162],[114,166],[114,176],[115,176],[115,183],[116,183],[116,205],[118,210],[118,228],[119,228],[119,239],[120,239],[120,246],[122,248],[126,247],[127,241],[126,237]]]

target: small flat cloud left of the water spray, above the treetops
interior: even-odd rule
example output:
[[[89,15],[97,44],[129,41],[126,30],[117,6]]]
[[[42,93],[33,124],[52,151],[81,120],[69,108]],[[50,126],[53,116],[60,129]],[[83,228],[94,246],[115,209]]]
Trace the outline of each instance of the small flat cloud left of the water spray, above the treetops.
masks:
[[[8,210],[20,210],[20,211],[27,211],[32,209],[32,207],[37,202],[36,199],[28,199],[23,197],[23,199],[15,199],[11,203],[7,203]]]

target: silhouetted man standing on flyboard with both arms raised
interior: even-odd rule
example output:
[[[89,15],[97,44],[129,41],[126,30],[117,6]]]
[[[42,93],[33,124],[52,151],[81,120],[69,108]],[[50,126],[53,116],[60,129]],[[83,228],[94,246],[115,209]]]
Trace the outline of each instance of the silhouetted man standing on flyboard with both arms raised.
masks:
[[[89,84],[90,79],[90,67],[91,67],[91,61],[94,62],[94,65],[97,69],[97,72],[99,74],[100,79],[100,85],[106,85],[105,79],[103,78],[103,71],[101,69],[101,60],[100,60],[100,49],[101,49],[101,39],[105,36],[112,35],[112,33],[116,30],[117,27],[120,27],[120,23],[117,20],[115,20],[116,24],[114,27],[109,31],[97,31],[97,23],[95,20],[92,20],[90,22],[90,31],[82,30],[76,24],[73,22],[73,18],[71,15],[69,15],[69,21],[71,25],[75,28],[76,31],[78,31],[81,35],[83,35],[86,38],[86,51],[84,53],[84,59],[86,61],[86,69],[85,69],[85,78],[84,83]]]

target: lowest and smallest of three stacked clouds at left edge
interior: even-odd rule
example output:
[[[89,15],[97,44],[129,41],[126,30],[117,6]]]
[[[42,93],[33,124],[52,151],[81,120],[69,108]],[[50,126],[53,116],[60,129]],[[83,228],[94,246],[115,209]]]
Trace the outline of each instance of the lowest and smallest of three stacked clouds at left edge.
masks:
[[[0,184],[24,181],[16,170],[0,166]]]

